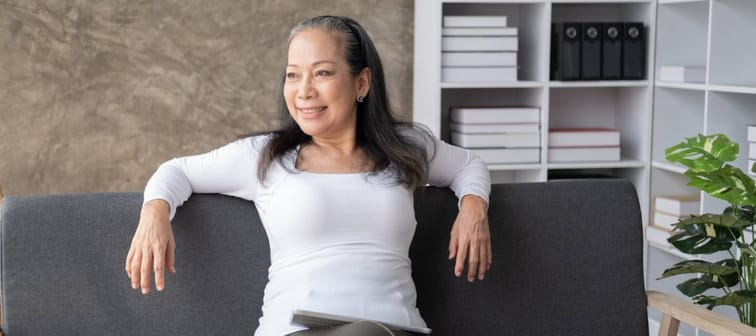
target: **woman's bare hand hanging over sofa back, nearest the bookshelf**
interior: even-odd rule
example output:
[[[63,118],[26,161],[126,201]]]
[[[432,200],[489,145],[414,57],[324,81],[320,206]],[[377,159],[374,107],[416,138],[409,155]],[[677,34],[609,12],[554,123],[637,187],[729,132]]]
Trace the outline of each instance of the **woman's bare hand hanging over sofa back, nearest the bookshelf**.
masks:
[[[467,281],[483,280],[491,268],[491,231],[488,204],[475,195],[465,195],[454,221],[449,241],[449,260],[456,257],[454,275],[462,276],[467,261]]]

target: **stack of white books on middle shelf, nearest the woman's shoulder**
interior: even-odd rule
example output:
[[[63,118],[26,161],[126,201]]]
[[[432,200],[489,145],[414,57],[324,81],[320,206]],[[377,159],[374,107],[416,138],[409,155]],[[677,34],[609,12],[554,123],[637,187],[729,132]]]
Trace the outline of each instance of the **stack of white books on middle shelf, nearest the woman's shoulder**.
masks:
[[[470,148],[488,164],[541,161],[539,107],[454,107],[451,143]]]

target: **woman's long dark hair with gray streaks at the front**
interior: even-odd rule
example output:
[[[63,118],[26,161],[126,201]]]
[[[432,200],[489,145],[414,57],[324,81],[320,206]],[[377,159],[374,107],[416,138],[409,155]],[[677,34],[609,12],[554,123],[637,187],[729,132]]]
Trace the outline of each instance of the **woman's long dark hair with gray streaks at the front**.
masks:
[[[292,28],[289,43],[299,32],[307,29],[325,29],[342,36],[344,54],[353,76],[363,69],[371,71],[370,91],[364,102],[357,104],[356,141],[372,162],[372,172],[377,173],[391,166],[398,182],[408,189],[423,186],[428,178],[428,157],[420,137],[408,135],[407,131],[419,132],[421,137],[430,136],[424,129],[398,121],[386,94],[383,66],[373,41],[362,26],[343,16],[317,16],[299,22]],[[280,128],[272,132],[259,161],[258,178],[265,179],[274,160],[281,162],[287,153],[297,146],[308,144],[312,138],[305,134],[289,114],[283,89],[286,73],[279,84]],[[282,163],[284,167],[285,164]]]

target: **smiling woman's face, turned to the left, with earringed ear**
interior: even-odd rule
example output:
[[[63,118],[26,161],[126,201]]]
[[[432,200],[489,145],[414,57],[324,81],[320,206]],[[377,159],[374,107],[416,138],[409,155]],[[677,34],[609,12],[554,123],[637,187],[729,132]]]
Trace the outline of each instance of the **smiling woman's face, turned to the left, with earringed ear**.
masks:
[[[356,99],[368,90],[369,71],[352,76],[337,34],[303,30],[289,44],[286,106],[302,131],[313,138],[353,138]]]

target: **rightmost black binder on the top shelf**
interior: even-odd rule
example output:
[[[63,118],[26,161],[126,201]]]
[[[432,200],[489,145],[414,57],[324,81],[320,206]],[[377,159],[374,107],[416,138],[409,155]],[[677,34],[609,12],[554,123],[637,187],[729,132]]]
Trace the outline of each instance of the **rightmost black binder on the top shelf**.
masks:
[[[643,79],[646,65],[643,23],[625,22],[622,36],[622,78]]]

